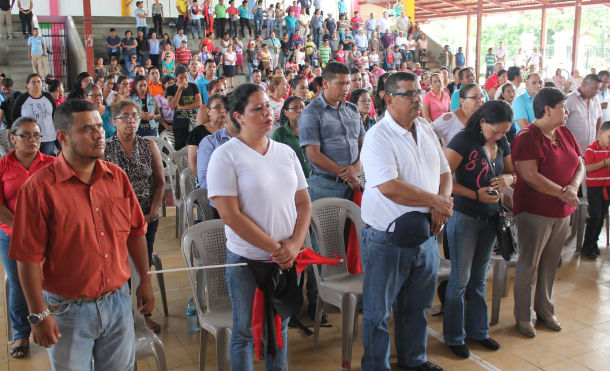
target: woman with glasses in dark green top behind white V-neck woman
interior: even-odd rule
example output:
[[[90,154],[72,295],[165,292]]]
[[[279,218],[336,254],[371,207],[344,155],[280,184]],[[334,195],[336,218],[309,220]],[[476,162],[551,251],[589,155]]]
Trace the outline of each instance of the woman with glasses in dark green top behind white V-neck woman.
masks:
[[[297,124],[304,109],[305,100],[303,98],[292,96],[286,99],[280,112],[280,123],[282,126],[273,131],[271,139],[284,143],[294,150],[301,163],[305,178],[309,178],[311,166],[309,165],[305,149],[299,144],[299,125]]]

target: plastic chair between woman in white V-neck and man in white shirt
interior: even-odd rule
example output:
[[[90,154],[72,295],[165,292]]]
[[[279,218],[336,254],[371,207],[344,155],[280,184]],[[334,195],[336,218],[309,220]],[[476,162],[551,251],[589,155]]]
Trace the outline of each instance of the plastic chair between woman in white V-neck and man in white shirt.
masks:
[[[320,254],[327,257],[341,256],[337,265],[323,265],[321,272],[314,269],[318,284],[318,302],[314,327],[314,349],[318,347],[322,302],[341,310],[341,366],[351,368],[352,342],[358,327],[357,309],[362,303],[363,274],[352,275],[347,271],[343,230],[350,219],[356,226],[358,246],[362,251],[362,219],[360,207],[341,198],[322,198],[312,204],[311,224],[318,238]],[[361,254],[362,255],[362,254]]]

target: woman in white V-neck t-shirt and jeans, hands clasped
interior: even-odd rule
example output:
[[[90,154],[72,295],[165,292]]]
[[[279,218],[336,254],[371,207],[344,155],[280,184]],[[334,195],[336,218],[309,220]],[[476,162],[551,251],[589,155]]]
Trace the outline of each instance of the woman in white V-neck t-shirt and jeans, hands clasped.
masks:
[[[269,98],[261,87],[242,84],[233,91],[231,123],[240,132],[218,147],[208,167],[208,197],[216,205],[227,236],[227,263],[271,261],[280,269],[293,265],[309,227],[311,201],[296,153],[267,137],[273,125]],[[271,263],[270,263],[271,264]],[[256,289],[247,266],[226,269],[233,310],[230,362],[234,370],[252,370],[252,302]],[[266,355],[266,369],[284,369],[284,346]],[[270,335],[273,336],[273,335]]]

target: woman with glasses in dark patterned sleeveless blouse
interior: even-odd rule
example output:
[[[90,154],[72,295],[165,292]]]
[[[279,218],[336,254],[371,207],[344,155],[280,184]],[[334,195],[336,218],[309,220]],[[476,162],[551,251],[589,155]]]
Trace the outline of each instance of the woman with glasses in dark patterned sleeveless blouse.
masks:
[[[129,183],[138,198],[148,229],[146,245],[148,261],[151,261],[155,234],[159,226],[159,207],[165,190],[163,164],[157,145],[137,135],[142,112],[132,100],[121,100],[112,106],[112,122],[116,134],[106,141],[105,160],[117,164],[129,178]],[[146,325],[155,333],[161,326],[150,315],[145,316]]]

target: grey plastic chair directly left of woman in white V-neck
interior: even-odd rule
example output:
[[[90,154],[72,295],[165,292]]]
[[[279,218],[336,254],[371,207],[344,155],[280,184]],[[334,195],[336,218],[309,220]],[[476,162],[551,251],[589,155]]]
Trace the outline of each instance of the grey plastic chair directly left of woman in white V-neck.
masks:
[[[220,219],[190,227],[182,237],[182,254],[187,267],[226,263],[226,237]],[[233,314],[225,280],[225,268],[189,271],[199,324],[199,369],[205,369],[208,332],[216,338],[218,370],[229,370],[229,346]],[[205,308],[205,310],[204,310]]]

